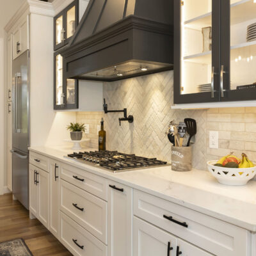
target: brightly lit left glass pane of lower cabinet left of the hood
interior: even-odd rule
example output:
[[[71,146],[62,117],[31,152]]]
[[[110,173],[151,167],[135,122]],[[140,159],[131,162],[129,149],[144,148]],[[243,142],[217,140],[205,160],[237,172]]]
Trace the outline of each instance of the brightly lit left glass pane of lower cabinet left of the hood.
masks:
[[[63,77],[62,77],[62,56],[58,54],[56,56],[56,105],[63,104],[62,93],[63,93]]]

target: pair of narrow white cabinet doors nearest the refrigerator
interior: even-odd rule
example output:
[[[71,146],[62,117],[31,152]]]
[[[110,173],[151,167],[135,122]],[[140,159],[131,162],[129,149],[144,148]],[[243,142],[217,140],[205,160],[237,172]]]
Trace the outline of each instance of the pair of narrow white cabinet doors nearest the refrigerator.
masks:
[[[29,211],[48,228],[49,173],[29,164]]]

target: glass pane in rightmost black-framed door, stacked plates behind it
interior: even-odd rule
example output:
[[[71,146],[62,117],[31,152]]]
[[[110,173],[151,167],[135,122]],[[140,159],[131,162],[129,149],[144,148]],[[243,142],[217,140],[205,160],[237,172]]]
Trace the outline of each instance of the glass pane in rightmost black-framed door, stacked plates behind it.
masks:
[[[231,0],[230,4],[230,88],[227,90],[245,92],[256,88],[256,1]]]

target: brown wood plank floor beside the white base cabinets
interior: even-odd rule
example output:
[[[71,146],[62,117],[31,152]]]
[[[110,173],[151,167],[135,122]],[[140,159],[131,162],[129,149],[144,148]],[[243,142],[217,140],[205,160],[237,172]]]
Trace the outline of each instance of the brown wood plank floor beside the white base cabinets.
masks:
[[[34,256],[72,255],[38,220],[29,219],[27,211],[12,195],[0,196],[0,243],[23,238]]]

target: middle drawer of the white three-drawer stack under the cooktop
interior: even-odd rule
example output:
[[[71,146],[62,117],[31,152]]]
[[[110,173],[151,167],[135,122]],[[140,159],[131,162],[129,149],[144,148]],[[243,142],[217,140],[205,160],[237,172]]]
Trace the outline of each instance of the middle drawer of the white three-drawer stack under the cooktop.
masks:
[[[107,243],[107,203],[61,180],[60,209],[93,236]]]

